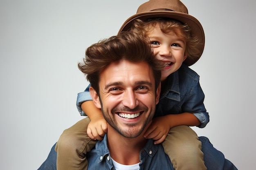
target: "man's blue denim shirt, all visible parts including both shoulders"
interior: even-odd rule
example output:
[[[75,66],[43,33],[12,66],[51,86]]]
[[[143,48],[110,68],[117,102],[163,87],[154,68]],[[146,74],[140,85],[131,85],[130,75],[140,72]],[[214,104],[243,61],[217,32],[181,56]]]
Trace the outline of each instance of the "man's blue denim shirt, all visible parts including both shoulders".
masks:
[[[213,147],[207,137],[198,138],[202,142],[202,152],[204,153],[204,163],[207,170],[237,170],[231,161],[225,159],[222,152]],[[55,146],[56,144],[52,146],[47,159],[38,170],[56,170],[57,152],[55,151]],[[87,155],[89,162],[88,170],[115,170],[107,148],[106,137],[104,137],[103,141],[99,141],[96,147],[87,154],[90,155]],[[144,149],[141,150],[139,158],[141,160],[139,164],[141,170],[173,170],[171,161],[164,153],[162,145],[154,145],[151,139],[148,140]]]

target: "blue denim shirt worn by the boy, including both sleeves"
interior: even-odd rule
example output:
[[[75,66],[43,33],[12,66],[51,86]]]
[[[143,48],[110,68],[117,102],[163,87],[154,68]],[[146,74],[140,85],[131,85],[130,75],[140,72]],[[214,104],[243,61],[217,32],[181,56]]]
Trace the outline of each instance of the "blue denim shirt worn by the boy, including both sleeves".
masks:
[[[76,106],[79,113],[86,116],[81,104],[92,100],[89,93],[90,85],[85,91],[78,93]],[[199,128],[204,128],[209,122],[209,114],[204,107],[204,93],[199,83],[199,75],[191,68],[182,66],[169,75],[162,83],[159,104],[155,116],[169,114],[193,113],[201,122]]]

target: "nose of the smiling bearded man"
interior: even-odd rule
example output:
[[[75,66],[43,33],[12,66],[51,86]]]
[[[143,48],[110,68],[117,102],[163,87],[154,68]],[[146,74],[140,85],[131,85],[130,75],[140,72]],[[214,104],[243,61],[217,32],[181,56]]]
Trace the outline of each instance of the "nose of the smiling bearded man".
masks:
[[[138,106],[138,104],[139,104],[139,101],[137,100],[137,95],[135,91],[127,90],[124,94],[123,105],[130,109],[133,109],[136,106]]]

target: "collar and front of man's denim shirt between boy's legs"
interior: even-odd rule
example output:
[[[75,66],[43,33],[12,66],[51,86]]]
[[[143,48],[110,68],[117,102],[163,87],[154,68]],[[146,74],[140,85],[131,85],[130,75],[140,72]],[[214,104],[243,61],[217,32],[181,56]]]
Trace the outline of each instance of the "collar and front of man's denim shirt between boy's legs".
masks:
[[[129,157],[129,155],[127,155]],[[88,170],[115,170],[107,146],[107,135],[98,141],[95,148],[87,154]],[[174,170],[169,157],[164,153],[161,144],[153,144],[149,139],[141,150],[139,159],[140,170]]]

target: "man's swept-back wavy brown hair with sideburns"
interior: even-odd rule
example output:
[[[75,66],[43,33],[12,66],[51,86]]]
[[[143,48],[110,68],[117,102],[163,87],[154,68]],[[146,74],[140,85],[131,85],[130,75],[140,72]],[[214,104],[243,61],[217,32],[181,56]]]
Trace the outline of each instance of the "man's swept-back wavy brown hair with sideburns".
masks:
[[[135,63],[146,62],[152,68],[157,88],[163,65],[154,57],[148,42],[148,39],[136,33],[121,32],[119,35],[101,40],[88,47],[85,51],[85,58],[83,58],[83,62],[78,64],[78,67],[87,75],[87,80],[98,93],[100,73],[112,62],[120,60]]]

